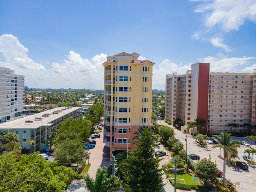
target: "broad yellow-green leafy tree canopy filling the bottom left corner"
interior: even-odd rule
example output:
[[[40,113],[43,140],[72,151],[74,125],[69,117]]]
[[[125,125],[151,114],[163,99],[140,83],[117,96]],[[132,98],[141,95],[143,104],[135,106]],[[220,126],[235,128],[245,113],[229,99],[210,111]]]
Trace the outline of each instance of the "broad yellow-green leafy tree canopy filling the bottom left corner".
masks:
[[[62,192],[76,177],[76,172],[57,162],[48,162],[38,153],[4,153],[0,156],[0,191]]]

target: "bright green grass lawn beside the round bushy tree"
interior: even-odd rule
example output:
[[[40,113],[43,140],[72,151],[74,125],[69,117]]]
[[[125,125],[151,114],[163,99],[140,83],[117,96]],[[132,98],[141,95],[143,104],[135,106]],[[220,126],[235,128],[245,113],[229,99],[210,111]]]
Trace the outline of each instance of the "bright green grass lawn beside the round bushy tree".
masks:
[[[174,178],[174,174],[166,174],[166,175],[168,178]],[[177,189],[180,189],[180,190],[194,189],[194,190],[200,191],[200,192],[208,192],[210,190],[209,188],[200,186],[198,184],[198,179],[196,180],[195,177],[193,179],[193,176],[191,176],[188,173],[181,174],[181,175],[177,174],[176,178],[185,180],[185,182],[182,180],[180,180],[180,181],[177,180]],[[170,180],[170,182],[174,185],[174,180]]]

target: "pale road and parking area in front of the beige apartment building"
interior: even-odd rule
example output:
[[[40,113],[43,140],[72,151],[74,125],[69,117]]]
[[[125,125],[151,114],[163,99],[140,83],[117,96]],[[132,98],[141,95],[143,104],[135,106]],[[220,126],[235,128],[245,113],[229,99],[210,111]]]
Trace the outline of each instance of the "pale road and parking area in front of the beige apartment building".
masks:
[[[162,121],[162,125],[168,125],[164,121]],[[169,126],[169,125],[168,125]],[[174,128],[173,126],[171,126]],[[184,144],[184,150],[186,150],[187,146],[187,154],[197,154],[200,156],[200,159],[203,158],[209,158],[208,154],[211,153],[211,160],[214,161],[215,164],[217,164],[218,169],[223,171],[223,160],[218,158],[218,155],[223,156],[223,152],[220,152],[220,148],[212,148],[213,145],[207,145],[207,149],[203,148],[202,146],[196,144],[193,137],[189,134],[184,134],[174,128],[175,137],[180,139],[180,142]],[[188,137],[188,140],[185,141],[186,136]],[[246,141],[245,138],[240,137],[232,137],[232,140],[240,140],[240,141]],[[256,149],[255,142],[253,142],[254,145],[252,148]],[[240,161],[246,162],[242,156],[244,155],[244,150],[249,147],[242,146],[238,148],[238,156],[240,158]],[[255,156],[256,158],[256,156]],[[255,159],[254,158],[254,159]],[[165,160],[166,161],[166,160]],[[198,162],[197,160],[194,160],[195,162]],[[167,161],[166,161],[167,162]],[[233,183],[240,182],[239,185],[236,184],[236,188],[239,188],[239,191],[243,192],[254,192],[256,191],[256,166],[249,166],[248,171],[243,170],[236,170],[233,167],[226,166],[226,179],[230,180]]]

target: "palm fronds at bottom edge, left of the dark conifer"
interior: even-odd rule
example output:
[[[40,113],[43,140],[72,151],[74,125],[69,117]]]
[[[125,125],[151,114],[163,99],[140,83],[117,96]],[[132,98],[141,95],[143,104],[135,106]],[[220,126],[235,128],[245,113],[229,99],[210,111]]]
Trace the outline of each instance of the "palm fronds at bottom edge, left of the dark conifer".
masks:
[[[105,167],[98,168],[95,180],[86,175],[84,177],[85,187],[90,192],[115,192],[121,189],[121,182],[116,176],[108,177]]]

